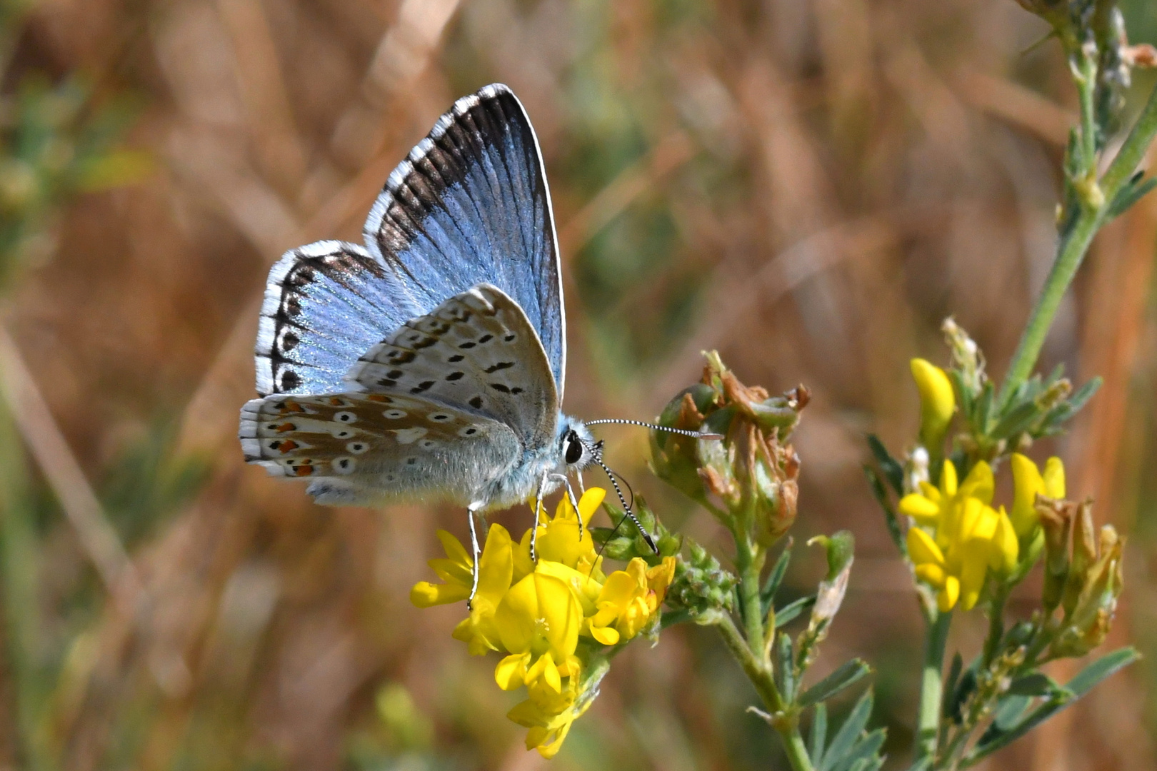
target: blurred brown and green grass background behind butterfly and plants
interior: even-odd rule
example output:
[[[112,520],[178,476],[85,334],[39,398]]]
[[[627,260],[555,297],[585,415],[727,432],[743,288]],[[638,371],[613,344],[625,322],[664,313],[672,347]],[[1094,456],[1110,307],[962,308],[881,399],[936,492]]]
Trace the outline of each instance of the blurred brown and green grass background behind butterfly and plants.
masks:
[[[1157,43],[1154,3],[1122,8]],[[708,347],[812,390],[795,535],[860,546],[817,674],[872,661],[907,758],[919,614],[863,436],[915,436],[907,359],[945,362],[948,314],[998,376],[1044,280],[1074,92],[1042,23],[1012,0],[5,0],[0,21],[0,768],[547,765],[494,660],[450,639],[462,608],[407,601],[463,513],[323,510],[235,439],[268,266],[360,239],[395,163],[493,81],[546,158],[569,412],[653,416]],[[987,769],[1157,764],[1155,240],[1151,195],[1097,242],[1042,366],[1106,385],[1037,448],[1129,535],[1112,639],[1149,659]],[[641,431],[604,436],[666,521],[723,542]],[[784,768],[753,700],[676,628],[616,661],[553,768]]]

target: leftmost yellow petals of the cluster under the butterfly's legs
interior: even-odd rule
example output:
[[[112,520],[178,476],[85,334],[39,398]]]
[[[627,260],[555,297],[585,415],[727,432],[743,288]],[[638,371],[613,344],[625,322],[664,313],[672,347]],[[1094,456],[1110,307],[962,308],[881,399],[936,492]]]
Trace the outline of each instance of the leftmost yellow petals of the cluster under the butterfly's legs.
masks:
[[[445,531],[439,531],[437,538],[442,541],[445,558],[430,559],[428,564],[445,583],[414,584],[410,590],[410,601],[419,608],[457,602],[470,596],[474,561],[466,554],[462,542]],[[466,643],[473,655],[499,650],[500,640],[494,625],[494,613],[510,588],[513,573],[514,548],[510,533],[501,525],[491,525],[486,534],[486,546],[478,561],[478,592],[471,603],[470,616],[454,630],[454,638]]]

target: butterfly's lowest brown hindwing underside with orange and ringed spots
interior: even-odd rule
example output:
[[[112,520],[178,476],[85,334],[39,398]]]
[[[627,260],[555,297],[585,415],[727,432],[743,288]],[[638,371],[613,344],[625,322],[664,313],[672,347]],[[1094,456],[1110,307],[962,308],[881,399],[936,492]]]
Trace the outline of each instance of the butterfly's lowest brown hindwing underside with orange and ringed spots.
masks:
[[[311,480],[318,503],[469,499],[521,452],[502,423],[420,396],[282,395],[242,409],[249,462]]]

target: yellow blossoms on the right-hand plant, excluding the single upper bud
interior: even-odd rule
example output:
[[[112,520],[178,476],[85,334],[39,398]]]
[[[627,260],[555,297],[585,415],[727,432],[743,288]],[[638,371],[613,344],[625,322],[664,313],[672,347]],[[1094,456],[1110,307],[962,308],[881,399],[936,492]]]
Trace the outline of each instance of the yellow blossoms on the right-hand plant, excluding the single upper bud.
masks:
[[[956,466],[944,462],[939,487],[920,484],[920,492],[900,499],[900,511],[912,517],[908,557],[916,577],[935,588],[942,611],[959,602],[972,609],[980,599],[988,571],[1008,576],[1039,532],[1033,502],[1037,494],[1064,497],[1064,467],[1049,458],[1041,475],[1029,458],[1014,453],[1012,516],[994,509],[993,469],[979,461],[958,484]]]

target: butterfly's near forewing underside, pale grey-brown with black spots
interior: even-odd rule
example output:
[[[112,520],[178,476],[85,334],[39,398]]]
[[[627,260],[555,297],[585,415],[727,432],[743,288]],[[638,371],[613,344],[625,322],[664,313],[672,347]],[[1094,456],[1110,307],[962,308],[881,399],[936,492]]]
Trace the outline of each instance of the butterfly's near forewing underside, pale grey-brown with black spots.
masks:
[[[421,395],[493,417],[526,446],[554,436],[558,395],[522,309],[496,287],[455,295],[406,321],[348,375],[361,388]]]

